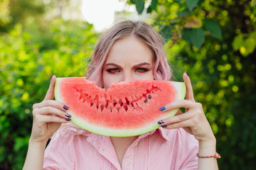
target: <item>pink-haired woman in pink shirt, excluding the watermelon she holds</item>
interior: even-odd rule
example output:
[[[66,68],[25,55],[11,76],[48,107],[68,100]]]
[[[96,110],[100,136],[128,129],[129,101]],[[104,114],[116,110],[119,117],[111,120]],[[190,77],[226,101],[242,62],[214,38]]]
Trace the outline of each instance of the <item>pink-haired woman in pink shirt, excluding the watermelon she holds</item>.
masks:
[[[144,22],[117,23],[100,38],[87,67],[88,79],[105,89],[119,81],[169,80],[171,70],[162,42],[156,30]],[[193,98],[186,72],[183,79],[186,99],[159,109],[186,108],[186,113],[179,111],[172,118],[159,120],[161,128],[143,135],[105,137],[73,125],[60,128],[71,116],[65,113],[65,103],[53,101],[53,75],[46,97],[33,105],[33,128],[23,169],[218,169],[215,137],[201,103]]]

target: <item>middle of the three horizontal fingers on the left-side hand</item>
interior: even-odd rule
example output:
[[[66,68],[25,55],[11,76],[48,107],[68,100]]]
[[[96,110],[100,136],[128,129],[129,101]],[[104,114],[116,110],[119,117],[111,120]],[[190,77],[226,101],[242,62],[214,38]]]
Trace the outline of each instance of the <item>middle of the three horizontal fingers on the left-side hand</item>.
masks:
[[[64,111],[60,111],[58,108],[53,108],[51,106],[43,107],[43,108],[36,108],[33,110],[33,115],[40,114],[40,115],[56,115],[60,118],[71,118],[71,115],[65,113]]]

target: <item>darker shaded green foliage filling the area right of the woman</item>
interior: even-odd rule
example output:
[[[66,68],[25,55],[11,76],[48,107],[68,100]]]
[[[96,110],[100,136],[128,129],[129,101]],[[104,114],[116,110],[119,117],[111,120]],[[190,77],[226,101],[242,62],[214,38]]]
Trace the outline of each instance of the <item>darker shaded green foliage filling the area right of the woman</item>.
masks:
[[[129,4],[129,3],[128,3]],[[220,169],[256,167],[255,1],[159,0],[151,13],[175,79],[186,70],[222,158]]]

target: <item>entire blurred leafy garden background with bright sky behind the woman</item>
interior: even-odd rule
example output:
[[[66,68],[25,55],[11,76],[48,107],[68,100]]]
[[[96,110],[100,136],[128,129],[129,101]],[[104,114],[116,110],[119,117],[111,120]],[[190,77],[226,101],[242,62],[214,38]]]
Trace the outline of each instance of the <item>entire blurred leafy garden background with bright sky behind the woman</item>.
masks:
[[[22,169],[51,75],[82,77],[97,38],[124,19],[163,35],[174,80],[188,72],[220,169],[255,169],[256,0],[1,0],[0,169]]]

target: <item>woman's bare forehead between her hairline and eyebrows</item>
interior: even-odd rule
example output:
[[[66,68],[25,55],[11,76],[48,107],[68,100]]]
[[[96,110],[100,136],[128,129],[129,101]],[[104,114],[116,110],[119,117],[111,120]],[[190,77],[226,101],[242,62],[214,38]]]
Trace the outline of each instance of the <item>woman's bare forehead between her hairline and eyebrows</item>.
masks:
[[[108,62],[115,62],[117,64],[149,62],[149,64],[152,64],[153,52],[142,40],[135,36],[129,36],[114,42],[105,63]]]

